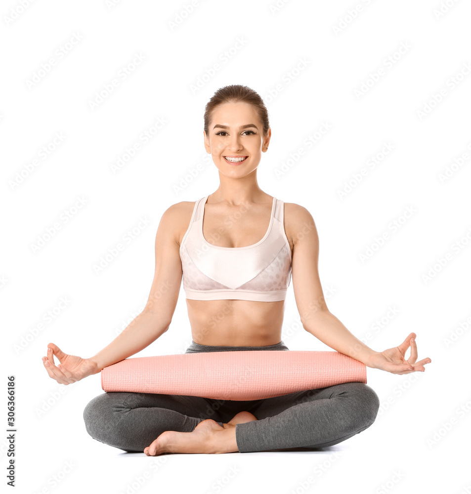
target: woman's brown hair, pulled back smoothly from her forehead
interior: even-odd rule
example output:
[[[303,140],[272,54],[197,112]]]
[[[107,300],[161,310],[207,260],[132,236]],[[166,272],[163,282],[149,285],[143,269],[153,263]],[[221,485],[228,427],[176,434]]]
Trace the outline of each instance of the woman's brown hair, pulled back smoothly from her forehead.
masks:
[[[260,95],[250,87],[241,84],[232,84],[219,88],[208,101],[205,107],[205,127],[206,135],[209,134],[209,124],[213,117],[213,111],[216,106],[222,103],[237,103],[244,101],[254,105],[257,109],[258,118],[263,124],[263,135],[268,135],[270,124],[268,122],[268,110]]]

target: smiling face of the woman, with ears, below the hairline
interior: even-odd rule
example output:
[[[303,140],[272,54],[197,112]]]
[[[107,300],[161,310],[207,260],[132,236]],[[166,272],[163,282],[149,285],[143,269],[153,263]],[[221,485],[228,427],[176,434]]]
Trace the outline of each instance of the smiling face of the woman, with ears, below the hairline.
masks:
[[[208,132],[203,132],[206,151],[211,153],[217,169],[227,176],[245,176],[254,171],[271,136],[271,129],[266,137],[263,135],[257,110],[245,102],[218,105]],[[227,157],[244,160],[230,163]]]

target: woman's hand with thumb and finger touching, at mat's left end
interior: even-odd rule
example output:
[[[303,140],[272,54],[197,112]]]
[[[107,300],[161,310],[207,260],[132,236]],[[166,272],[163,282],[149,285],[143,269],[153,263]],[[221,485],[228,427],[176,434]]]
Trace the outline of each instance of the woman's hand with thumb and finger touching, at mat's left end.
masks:
[[[60,362],[57,366],[54,364],[54,355]],[[76,355],[68,355],[54,343],[47,345],[47,357],[43,357],[43,365],[52,379],[66,385],[100,371],[96,362]]]

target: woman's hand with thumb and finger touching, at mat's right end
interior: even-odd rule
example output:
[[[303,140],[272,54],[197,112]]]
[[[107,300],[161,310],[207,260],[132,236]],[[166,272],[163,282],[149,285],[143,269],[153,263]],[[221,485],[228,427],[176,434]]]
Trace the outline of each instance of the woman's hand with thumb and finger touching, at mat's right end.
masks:
[[[417,344],[415,341],[416,333],[410,333],[409,336],[394,348],[388,348],[384,352],[377,352],[370,355],[365,365],[373,369],[391,372],[392,374],[409,374],[410,372],[425,371],[425,364],[431,362],[430,358],[422,359],[417,362]],[[406,360],[405,353],[411,347],[411,356]]]

